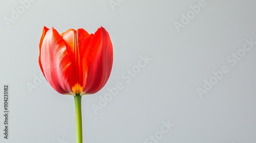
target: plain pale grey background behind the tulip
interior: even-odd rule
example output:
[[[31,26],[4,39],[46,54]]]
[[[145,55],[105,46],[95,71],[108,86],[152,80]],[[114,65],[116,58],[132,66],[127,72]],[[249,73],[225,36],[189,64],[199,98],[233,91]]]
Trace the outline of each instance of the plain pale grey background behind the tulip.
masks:
[[[37,0],[10,27],[4,17],[22,5],[1,2],[0,91],[10,85],[10,134],[4,139],[1,96],[0,142],[75,142],[73,97],[57,93],[46,80],[32,93],[27,87],[41,73],[44,26],[59,33],[71,28],[94,33],[102,26],[111,36],[110,79],[99,92],[82,97],[84,142],[145,142],[167,121],[174,126],[158,142],[255,142],[256,45],[234,66],[227,57],[242,49],[245,39],[256,41],[256,1],[206,0],[180,32],[174,22],[199,1],[119,2],[112,9],[109,0]],[[121,75],[145,54],[152,60],[126,83]],[[228,73],[200,98],[197,88],[223,65]],[[117,82],[124,88],[95,114],[92,105]]]

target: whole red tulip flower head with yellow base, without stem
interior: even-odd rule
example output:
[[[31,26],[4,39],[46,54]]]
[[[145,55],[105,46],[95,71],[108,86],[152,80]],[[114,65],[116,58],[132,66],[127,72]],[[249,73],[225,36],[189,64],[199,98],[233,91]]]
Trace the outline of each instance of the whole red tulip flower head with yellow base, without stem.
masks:
[[[39,65],[49,84],[61,94],[93,94],[108,81],[113,64],[109,33],[70,29],[59,34],[44,27],[39,43]]]

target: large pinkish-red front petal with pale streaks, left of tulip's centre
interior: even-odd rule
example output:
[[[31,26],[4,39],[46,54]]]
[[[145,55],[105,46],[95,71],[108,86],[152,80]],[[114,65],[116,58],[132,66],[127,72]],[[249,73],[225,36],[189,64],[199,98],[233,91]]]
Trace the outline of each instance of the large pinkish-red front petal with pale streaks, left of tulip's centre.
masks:
[[[71,62],[64,40],[53,28],[42,41],[40,60],[49,84],[61,94],[70,94]]]

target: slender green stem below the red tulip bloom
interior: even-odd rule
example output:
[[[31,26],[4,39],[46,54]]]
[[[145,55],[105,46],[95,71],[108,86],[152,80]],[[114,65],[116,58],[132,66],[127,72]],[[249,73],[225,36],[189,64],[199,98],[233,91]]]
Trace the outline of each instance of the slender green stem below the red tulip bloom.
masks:
[[[81,97],[79,94],[74,96],[76,109],[76,143],[82,143],[82,113]]]

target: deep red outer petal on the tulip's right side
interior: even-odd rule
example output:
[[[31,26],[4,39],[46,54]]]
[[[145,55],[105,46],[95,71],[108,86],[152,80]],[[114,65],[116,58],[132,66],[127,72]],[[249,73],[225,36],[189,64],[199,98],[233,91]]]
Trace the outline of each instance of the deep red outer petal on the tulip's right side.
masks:
[[[108,81],[113,64],[113,46],[109,33],[104,28],[99,28],[83,58],[87,64],[88,76],[83,84],[83,92],[96,93]]]

